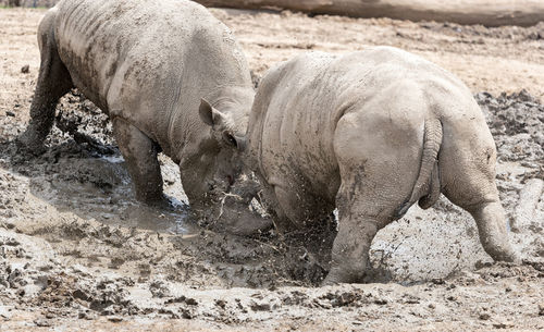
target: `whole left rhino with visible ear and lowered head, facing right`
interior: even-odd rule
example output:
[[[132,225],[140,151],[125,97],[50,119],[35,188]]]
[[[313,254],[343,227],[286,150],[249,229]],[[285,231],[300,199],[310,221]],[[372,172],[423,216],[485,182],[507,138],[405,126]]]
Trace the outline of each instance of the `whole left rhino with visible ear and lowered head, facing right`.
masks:
[[[163,200],[160,150],[180,164],[194,208],[208,202],[214,176],[224,180],[222,189],[232,184],[240,163],[224,147],[245,133],[255,91],[240,47],[203,7],[63,0],[40,22],[38,42],[24,145],[42,145],[59,98],[77,87],[112,120],[137,199]]]

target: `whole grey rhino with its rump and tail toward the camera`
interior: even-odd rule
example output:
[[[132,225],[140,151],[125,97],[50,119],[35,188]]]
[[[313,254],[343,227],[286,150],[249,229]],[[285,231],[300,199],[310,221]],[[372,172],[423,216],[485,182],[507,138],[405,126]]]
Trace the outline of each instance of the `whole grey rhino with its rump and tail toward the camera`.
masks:
[[[484,116],[459,79],[417,56],[378,47],[284,62],[259,86],[247,139],[279,226],[338,208],[325,284],[361,281],[376,232],[440,193],[472,214],[495,260],[517,260]]]

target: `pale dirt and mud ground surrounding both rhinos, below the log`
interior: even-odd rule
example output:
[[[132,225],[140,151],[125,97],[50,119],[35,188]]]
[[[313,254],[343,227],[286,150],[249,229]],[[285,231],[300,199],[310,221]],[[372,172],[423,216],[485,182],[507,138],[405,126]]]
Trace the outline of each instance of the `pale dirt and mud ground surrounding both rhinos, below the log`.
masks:
[[[273,63],[391,45],[457,74],[498,148],[497,184],[519,266],[493,263],[473,220],[442,198],[371,248],[369,283],[317,287],[313,234],[243,238],[134,200],[108,119],[74,91],[40,157],[12,140],[36,84],[44,10],[0,9],[0,330],[246,331],[544,329],[544,24],[529,28],[213,10],[256,82]],[[175,41],[173,41],[175,42]],[[22,69],[28,65],[25,70]]]

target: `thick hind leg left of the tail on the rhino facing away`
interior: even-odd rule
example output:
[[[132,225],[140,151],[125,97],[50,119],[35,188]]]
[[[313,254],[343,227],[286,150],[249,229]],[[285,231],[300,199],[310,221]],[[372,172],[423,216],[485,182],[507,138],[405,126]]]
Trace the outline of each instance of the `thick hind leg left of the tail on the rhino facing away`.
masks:
[[[346,114],[336,127],[338,234],[323,284],[362,281],[372,239],[396,219],[397,209],[410,197],[418,177],[421,155],[409,147],[421,146],[422,133],[413,132],[420,126],[407,123],[409,119],[391,119],[387,112],[381,116],[371,111]],[[376,134],[376,127],[385,134]]]

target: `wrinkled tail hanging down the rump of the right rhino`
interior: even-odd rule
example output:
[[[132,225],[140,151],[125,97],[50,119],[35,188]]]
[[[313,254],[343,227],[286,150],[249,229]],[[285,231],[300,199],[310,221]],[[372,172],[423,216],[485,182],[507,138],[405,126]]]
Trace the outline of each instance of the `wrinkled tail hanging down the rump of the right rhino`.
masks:
[[[403,204],[396,218],[401,218],[408,209],[419,200],[422,209],[432,207],[440,197],[441,183],[438,173],[438,151],[442,145],[442,123],[438,119],[425,120],[423,153],[419,175],[413,185],[411,196]]]

